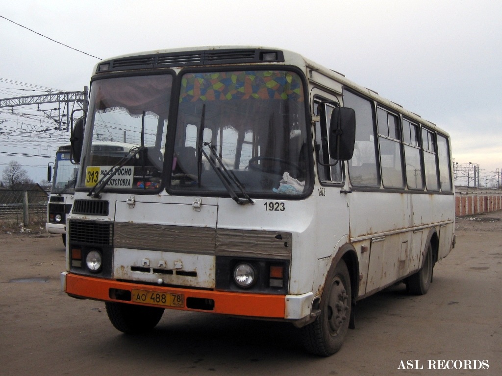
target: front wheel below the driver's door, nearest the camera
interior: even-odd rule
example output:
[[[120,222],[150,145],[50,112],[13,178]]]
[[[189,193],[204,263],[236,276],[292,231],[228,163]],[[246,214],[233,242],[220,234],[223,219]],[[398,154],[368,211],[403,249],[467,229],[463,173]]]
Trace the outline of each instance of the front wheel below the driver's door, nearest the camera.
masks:
[[[340,260],[326,278],[320,315],[301,329],[305,349],[320,356],[337,352],[347,335],[351,309],[350,275],[345,262]]]

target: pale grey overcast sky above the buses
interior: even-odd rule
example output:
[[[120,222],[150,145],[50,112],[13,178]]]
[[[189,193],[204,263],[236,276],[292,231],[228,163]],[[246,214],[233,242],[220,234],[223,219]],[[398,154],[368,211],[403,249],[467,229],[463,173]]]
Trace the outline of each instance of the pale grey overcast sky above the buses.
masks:
[[[502,169],[500,1],[0,0],[0,5],[0,16],[82,51],[0,18],[0,98],[48,88],[83,90],[98,62],[84,53],[105,59],[176,47],[278,47],[341,72],[445,129],[455,161],[478,163],[481,180]],[[51,121],[43,113],[37,118],[9,111],[0,109],[0,170],[18,159],[39,182],[51,161],[43,156],[53,156],[68,134],[40,132]],[[17,154],[5,154],[11,151]],[[19,156],[23,153],[36,157]]]

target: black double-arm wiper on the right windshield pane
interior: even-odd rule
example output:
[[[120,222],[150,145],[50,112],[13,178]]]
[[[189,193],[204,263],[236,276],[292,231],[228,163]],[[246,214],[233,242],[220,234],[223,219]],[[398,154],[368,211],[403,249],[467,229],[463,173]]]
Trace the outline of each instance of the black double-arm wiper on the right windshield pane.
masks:
[[[253,201],[253,199],[251,199],[246,191],[244,190],[244,187],[242,186],[242,184],[240,183],[239,179],[237,178],[237,176],[235,176],[235,174],[232,173],[230,174],[230,171],[228,171],[225,167],[225,165],[223,164],[223,161],[220,159],[220,157],[218,156],[218,153],[216,153],[216,151],[213,149],[213,146],[211,145],[210,142],[203,142],[203,135],[204,135],[204,122],[205,122],[205,114],[206,114],[206,105],[203,104],[202,105],[202,116],[201,116],[201,119],[200,119],[200,129],[199,129],[199,142],[197,142],[197,148],[202,152],[202,154],[204,154],[204,156],[206,157],[207,161],[209,162],[209,165],[211,166],[211,168],[214,170],[214,172],[216,173],[216,176],[218,176],[218,178],[221,180],[221,182],[223,183],[223,186],[225,187],[226,191],[228,192],[228,194],[230,195],[230,197],[232,198],[233,201],[235,201],[237,204],[239,205],[244,205],[244,204],[255,204],[255,202]],[[203,147],[204,146],[209,146],[209,150],[211,151],[211,156],[214,156],[214,159],[216,159],[218,161],[218,164],[220,165],[220,167],[216,166],[216,164],[214,163],[214,160],[213,158],[211,158],[210,156],[207,155],[207,153],[204,151]],[[201,178],[201,164],[202,164],[202,155],[198,155],[197,157],[197,162],[198,162],[198,178],[199,178],[199,186],[200,186],[200,178]],[[223,173],[221,171],[224,171],[226,173],[226,176],[223,175]],[[242,200],[240,199],[237,194],[235,193],[235,191],[233,190],[232,186],[231,186],[231,182],[239,189],[240,193],[244,196],[245,200]]]

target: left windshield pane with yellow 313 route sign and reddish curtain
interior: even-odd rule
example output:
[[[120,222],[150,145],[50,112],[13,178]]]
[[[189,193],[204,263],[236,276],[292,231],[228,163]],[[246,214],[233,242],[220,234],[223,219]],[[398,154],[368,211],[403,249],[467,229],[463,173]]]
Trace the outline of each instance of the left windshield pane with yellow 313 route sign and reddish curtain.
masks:
[[[92,82],[80,187],[113,174],[105,189],[160,189],[172,81],[152,75]]]

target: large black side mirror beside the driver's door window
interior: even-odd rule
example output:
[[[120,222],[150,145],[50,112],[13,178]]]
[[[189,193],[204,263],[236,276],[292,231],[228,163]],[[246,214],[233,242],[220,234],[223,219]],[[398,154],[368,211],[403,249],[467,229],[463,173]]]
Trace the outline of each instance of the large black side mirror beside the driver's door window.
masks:
[[[349,160],[354,154],[355,111],[336,107],[329,124],[329,155],[336,160]]]

